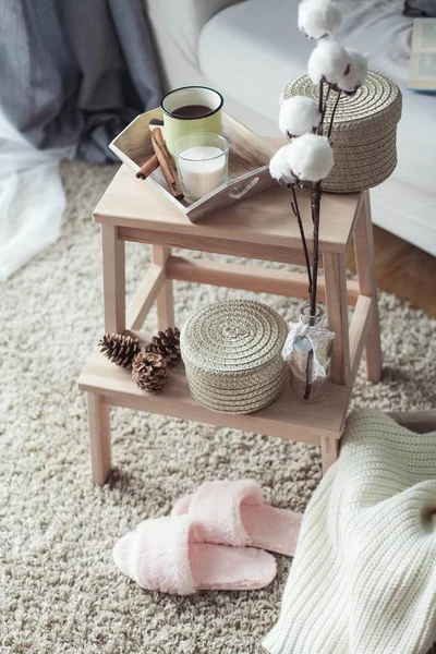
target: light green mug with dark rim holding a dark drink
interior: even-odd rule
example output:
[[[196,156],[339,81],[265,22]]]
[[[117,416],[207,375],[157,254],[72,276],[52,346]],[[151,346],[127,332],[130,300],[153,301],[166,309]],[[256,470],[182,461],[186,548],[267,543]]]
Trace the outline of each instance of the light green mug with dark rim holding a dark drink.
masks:
[[[170,155],[174,155],[174,145],[182,136],[203,132],[222,135],[222,105],[221,94],[206,86],[184,86],[167,93],[160,108]]]

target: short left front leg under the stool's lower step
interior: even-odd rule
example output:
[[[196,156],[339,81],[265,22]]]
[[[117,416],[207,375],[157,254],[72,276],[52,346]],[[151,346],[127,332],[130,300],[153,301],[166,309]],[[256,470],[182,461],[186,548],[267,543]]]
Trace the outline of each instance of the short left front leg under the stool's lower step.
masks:
[[[87,392],[92,477],[102,486],[110,472],[110,420],[109,407],[101,396]]]

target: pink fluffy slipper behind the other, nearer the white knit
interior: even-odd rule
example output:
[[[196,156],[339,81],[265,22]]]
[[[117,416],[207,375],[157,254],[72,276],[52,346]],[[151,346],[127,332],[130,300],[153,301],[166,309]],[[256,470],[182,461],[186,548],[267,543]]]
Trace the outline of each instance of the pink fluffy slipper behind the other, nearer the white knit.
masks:
[[[175,502],[171,516],[184,513],[199,523],[206,543],[251,545],[287,556],[295,553],[303,518],[263,504],[262,488],[253,480],[205,482]]]

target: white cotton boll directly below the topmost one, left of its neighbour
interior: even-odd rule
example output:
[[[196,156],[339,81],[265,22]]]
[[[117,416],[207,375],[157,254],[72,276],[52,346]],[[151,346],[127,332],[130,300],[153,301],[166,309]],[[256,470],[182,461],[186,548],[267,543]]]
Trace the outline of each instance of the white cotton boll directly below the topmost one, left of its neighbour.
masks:
[[[351,65],[351,57],[337,41],[323,39],[312,52],[307,62],[307,72],[312,82],[317,85],[323,80],[337,86]]]

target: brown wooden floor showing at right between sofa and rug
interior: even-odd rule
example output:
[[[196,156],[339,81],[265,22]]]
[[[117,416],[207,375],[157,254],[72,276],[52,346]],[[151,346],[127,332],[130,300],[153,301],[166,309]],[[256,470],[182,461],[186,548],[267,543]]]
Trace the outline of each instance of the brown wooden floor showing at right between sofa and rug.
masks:
[[[436,257],[374,227],[377,284],[436,317]],[[355,271],[352,247],[348,267]]]

